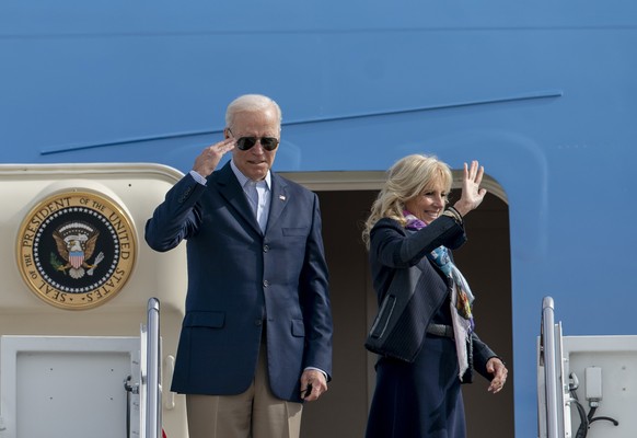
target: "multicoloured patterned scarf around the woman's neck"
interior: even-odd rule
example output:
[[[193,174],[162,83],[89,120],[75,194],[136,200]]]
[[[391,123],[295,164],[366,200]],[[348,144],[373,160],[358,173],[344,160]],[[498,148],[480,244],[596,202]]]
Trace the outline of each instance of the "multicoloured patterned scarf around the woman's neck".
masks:
[[[407,210],[403,211],[408,230],[420,230],[427,227],[416,216]],[[451,287],[451,320],[453,325],[453,334],[455,339],[455,350],[458,351],[458,365],[460,368],[459,377],[462,376],[468,368],[467,342],[471,339],[471,334],[474,331],[475,324],[472,314],[472,304],[474,296],[466,279],[454,265],[449,256],[449,250],[445,246],[438,246],[431,253],[427,254],[427,258],[436,263],[436,265],[444,273],[444,275],[452,279]]]

